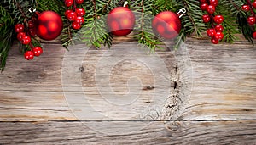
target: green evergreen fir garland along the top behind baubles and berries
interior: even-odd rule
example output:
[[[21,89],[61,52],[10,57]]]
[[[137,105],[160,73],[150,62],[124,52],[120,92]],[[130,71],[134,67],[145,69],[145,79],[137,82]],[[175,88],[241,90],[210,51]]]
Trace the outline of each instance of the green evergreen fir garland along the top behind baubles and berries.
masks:
[[[61,42],[64,47],[73,42],[84,42],[96,48],[104,46],[111,47],[113,36],[106,31],[105,16],[110,10],[122,6],[125,0],[85,0],[82,7],[86,10],[84,25],[81,30],[73,30],[70,22],[65,18],[66,7],[64,0],[2,0],[0,2],[0,70],[3,70],[12,43],[16,39],[14,31],[15,24],[24,22],[31,16],[29,8],[37,8],[38,12],[52,10],[61,15],[64,29],[61,34]],[[130,8],[137,12],[137,24],[133,36],[137,42],[148,46],[151,51],[160,48],[161,40],[156,39],[151,28],[150,15],[159,14],[170,10],[177,12],[185,8],[187,13],[181,18],[183,28],[177,36],[176,46],[184,41],[187,36],[202,36],[209,25],[201,20],[203,11],[199,0],[128,0]],[[224,16],[224,42],[234,42],[235,34],[241,33],[253,43],[252,33],[255,28],[247,24],[249,13],[241,10],[241,6],[247,0],[219,0],[216,14]],[[255,12],[255,10],[254,10]],[[38,39],[33,38],[33,43]],[[20,45],[20,50],[26,50],[26,46]]]

